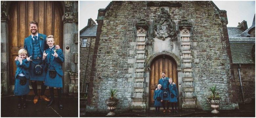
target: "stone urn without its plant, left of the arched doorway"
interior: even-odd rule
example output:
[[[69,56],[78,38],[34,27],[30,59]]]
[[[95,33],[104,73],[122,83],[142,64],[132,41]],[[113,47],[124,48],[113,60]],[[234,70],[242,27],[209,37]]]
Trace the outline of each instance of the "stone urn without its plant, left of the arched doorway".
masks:
[[[108,106],[108,110],[110,111],[106,116],[114,116],[116,113],[114,110],[116,110],[117,105],[119,104],[120,100],[118,99],[107,99],[105,100],[105,103]]]

